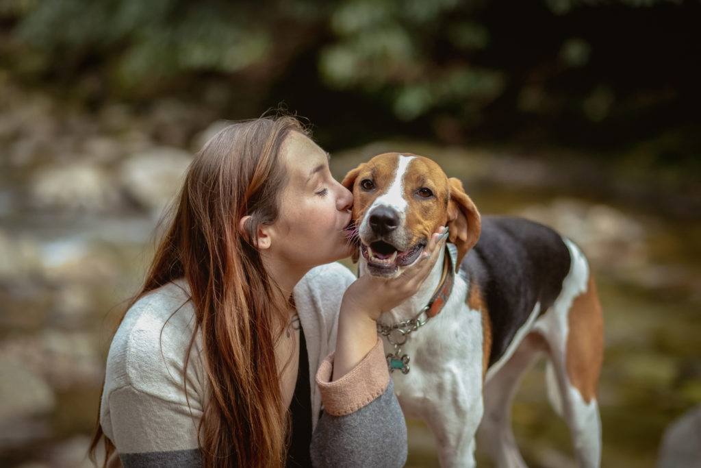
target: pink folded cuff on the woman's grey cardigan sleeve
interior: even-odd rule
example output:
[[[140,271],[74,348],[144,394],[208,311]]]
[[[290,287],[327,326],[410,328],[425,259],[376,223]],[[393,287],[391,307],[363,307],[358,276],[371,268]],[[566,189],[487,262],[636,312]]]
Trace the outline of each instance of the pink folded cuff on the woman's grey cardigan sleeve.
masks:
[[[327,413],[345,416],[359,410],[385,392],[390,383],[387,361],[378,338],[365,357],[339,380],[331,382],[334,353],[324,359],[316,373],[316,385]]]

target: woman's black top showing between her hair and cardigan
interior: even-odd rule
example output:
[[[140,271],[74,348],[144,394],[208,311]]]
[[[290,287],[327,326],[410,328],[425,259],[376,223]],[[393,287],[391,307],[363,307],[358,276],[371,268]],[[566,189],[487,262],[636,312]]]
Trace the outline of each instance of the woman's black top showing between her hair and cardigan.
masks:
[[[299,323],[299,370],[297,384],[290,403],[292,434],[287,450],[288,468],[311,467],[309,446],[311,445],[311,388],[309,387],[309,359],[306,351],[304,330]]]

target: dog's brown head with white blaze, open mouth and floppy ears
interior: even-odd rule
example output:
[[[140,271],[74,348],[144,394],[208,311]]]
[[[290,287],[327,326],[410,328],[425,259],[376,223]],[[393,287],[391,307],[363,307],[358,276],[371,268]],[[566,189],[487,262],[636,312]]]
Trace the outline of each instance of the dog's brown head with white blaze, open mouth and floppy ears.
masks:
[[[431,234],[449,227],[458,269],[479,239],[479,213],[463,185],[435,161],[386,153],[362,163],[341,182],[353,192],[360,253],[371,274],[398,276],[421,256]]]

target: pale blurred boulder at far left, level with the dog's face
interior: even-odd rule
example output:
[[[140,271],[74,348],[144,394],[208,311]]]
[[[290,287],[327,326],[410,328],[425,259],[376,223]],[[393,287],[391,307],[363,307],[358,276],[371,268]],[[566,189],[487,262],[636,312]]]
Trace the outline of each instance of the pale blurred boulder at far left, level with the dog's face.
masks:
[[[88,162],[41,169],[34,175],[29,193],[32,206],[43,210],[106,213],[120,205],[107,172]]]

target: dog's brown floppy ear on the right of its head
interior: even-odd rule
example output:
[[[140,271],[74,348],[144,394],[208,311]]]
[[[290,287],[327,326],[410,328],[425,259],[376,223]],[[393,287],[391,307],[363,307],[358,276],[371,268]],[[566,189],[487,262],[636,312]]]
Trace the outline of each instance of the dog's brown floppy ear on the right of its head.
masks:
[[[475,203],[465,194],[463,182],[456,178],[448,179],[450,199],[448,201],[448,240],[458,248],[458,261],[455,271],[458,272],[460,262],[474,247],[479,239],[482,222]]]

